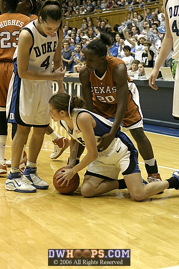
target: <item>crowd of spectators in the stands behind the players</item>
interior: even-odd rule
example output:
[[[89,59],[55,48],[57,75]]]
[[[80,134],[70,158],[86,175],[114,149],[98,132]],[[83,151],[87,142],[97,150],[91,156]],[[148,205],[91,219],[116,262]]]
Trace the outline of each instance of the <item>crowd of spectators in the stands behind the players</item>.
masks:
[[[63,1],[62,5],[66,5],[67,1]],[[156,8],[152,11],[145,6],[144,1],[140,4],[137,1],[82,1],[82,7],[87,3],[93,5],[94,9],[103,7],[107,4],[108,8],[115,4],[122,7],[126,4],[134,5],[129,8],[127,17],[124,22],[110,25],[108,18],[101,19],[91,16],[82,17],[81,27],[77,29],[69,25],[66,20],[63,25],[63,65],[67,67],[67,73],[79,73],[84,61],[84,49],[86,45],[94,38],[99,38],[101,33],[109,34],[113,40],[113,46],[107,48],[107,55],[122,59],[131,77],[137,73],[139,77],[146,78],[144,68],[153,67],[160,47],[165,36],[165,14],[164,7]],[[70,7],[77,8],[76,1],[68,1]],[[74,5],[75,4],[75,5]],[[113,5],[110,5],[113,4]],[[135,11],[135,4],[141,8],[141,13]],[[81,8],[81,6],[80,6]],[[81,50],[79,50],[81,47]],[[172,51],[167,57],[164,67],[170,67],[175,75],[175,67],[177,61],[172,59]],[[75,67],[75,68],[74,68]],[[159,75],[160,77],[161,75]]]

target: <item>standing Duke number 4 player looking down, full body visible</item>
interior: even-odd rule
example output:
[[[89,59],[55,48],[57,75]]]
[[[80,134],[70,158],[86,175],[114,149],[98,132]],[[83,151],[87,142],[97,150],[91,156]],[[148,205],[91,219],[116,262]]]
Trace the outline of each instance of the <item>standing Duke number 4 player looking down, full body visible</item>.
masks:
[[[47,0],[41,7],[38,19],[19,34],[7,100],[8,122],[17,123],[11,148],[11,172],[5,184],[10,191],[36,192],[36,189],[49,187],[36,173],[36,160],[50,122],[48,100],[52,96],[52,80],[62,79],[66,71],[62,71],[60,66],[61,26],[59,1]],[[54,73],[51,71],[52,61]],[[22,178],[19,162],[31,127],[33,134],[29,143],[29,158]]]

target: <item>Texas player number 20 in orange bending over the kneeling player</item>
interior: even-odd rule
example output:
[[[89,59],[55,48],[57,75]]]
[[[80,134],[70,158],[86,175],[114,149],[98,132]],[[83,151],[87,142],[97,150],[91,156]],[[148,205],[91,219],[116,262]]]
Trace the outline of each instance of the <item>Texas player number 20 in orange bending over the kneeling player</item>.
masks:
[[[106,56],[106,45],[110,46],[110,38],[104,34],[87,45],[84,52],[86,65],[79,75],[86,108],[105,118],[115,118],[113,128],[100,138],[98,148],[106,150],[123,123],[137,142],[148,181],[161,181],[151,143],[143,131],[138,89],[128,77],[125,63]]]

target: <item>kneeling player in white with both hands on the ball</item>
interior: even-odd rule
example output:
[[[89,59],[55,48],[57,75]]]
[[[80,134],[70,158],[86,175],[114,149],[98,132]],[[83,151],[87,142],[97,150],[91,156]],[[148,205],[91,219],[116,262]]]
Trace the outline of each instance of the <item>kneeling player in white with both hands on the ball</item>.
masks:
[[[72,137],[69,164],[62,169],[63,173],[57,177],[57,182],[61,181],[61,185],[67,186],[71,178],[88,165],[81,187],[84,197],[127,188],[133,199],[141,201],[167,188],[179,188],[179,178],[175,172],[170,179],[142,184],[138,151],[120,128],[107,149],[101,152],[98,139],[110,131],[113,122],[85,109],[77,109],[83,105],[83,99],[66,93],[56,94],[49,100],[52,119],[60,120]],[[75,165],[79,143],[85,145],[87,154]],[[124,179],[118,180],[120,171]]]

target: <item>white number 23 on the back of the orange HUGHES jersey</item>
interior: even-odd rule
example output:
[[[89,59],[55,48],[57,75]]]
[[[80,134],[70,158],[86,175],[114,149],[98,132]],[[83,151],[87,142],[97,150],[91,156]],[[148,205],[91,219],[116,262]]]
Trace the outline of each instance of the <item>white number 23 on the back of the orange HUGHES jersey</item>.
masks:
[[[12,33],[8,31],[1,32],[1,49],[10,49],[12,47],[17,48],[18,34],[18,31],[14,31]],[[15,42],[12,42],[13,39],[15,40]]]

